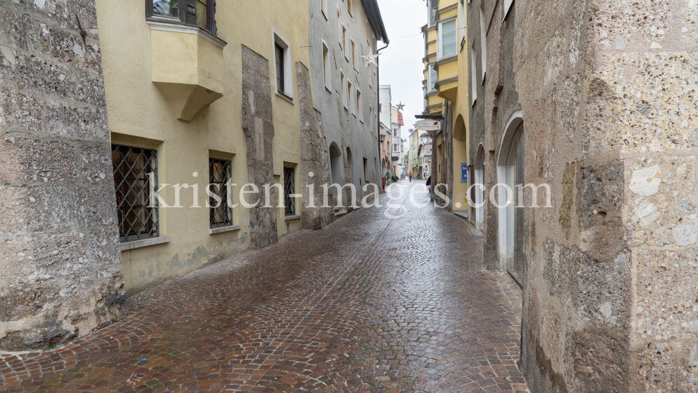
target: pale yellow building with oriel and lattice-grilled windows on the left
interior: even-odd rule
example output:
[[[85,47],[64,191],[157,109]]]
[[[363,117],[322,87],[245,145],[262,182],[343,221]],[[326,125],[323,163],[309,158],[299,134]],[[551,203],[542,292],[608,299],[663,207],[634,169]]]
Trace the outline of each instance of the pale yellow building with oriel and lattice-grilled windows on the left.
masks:
[[[309,68],[307,1],[218,1],[194,20],[176,3],[149,0],[144,13],[143,0],[96,1],[112,158],[124,165],[124,187],[115,181],[127,295],[301,228],[294,200],[294,214],[273,209],[276,232],[260,237],[269,212],[237,195],[248,183],[283,184],[269,191],[276,201],[301,188],[296,64]],[[147,190],[133,200],[143,173],[156,175],[156,208],[144,208]],[[226,180],[237,206],[215,212],[207,184]]]

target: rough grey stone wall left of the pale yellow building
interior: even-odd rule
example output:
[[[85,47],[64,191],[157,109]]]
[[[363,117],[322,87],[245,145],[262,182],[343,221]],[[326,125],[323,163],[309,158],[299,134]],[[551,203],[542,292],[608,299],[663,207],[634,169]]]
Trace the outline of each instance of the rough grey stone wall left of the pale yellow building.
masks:
[[[96,12],[0,20],[0,350],[49,348],[125,312]]]

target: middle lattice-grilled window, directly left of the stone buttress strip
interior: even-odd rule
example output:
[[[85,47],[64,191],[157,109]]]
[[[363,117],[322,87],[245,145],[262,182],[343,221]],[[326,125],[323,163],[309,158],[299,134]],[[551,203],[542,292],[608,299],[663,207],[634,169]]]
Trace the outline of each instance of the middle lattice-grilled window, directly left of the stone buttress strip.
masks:
[[[232,225],[232,208],[228,204],[228,184],[232,173],[232,163],[225,160],[209,158],[209,198],[211,228]],[[213,195],[221,198],[218,202]]]

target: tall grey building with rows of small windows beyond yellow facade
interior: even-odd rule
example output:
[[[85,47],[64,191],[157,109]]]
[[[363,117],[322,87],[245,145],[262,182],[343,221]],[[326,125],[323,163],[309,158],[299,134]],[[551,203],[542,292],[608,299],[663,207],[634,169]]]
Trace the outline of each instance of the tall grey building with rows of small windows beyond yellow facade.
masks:
[[[378,40],[387,41],[385,26],[376,0],[309,3],[313,95],[322,116],[332,182],[353,184],[362,198],[366,183],[381,183],[378,66],[367,65],[364,56],[378,52]],[[345,206],[351,203],[348,196]]]

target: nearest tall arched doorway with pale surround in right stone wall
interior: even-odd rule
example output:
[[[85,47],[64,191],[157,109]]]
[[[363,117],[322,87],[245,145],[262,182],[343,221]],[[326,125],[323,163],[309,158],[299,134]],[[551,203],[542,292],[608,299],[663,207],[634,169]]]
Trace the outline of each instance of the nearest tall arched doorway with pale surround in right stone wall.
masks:
[[[523,283],[523,168],[526,138],[521,111],[514,112],[507,122],[500,145],[497,175],[499,208],[500,258],[514,280]],[[520,192],[521,191],[521,192]],[[506,203],[504,203],[506,202]]]

